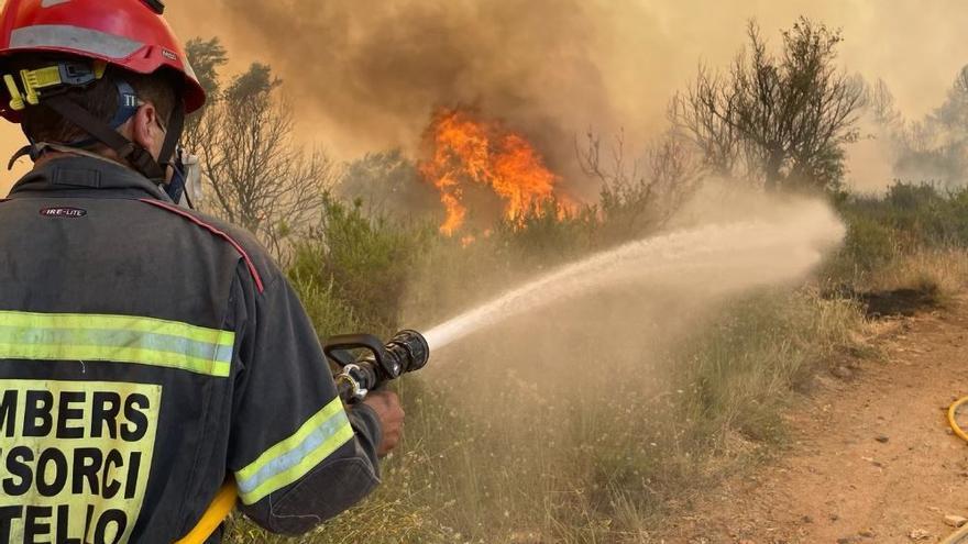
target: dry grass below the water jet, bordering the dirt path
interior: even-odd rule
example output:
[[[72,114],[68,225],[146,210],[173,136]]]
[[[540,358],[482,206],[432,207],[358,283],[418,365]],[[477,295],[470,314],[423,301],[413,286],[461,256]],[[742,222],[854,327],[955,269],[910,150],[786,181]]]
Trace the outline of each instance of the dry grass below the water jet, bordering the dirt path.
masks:
[[[644,341],[639,358],[603,373],[454,360],[432,381],[404,384],[407,438],[382,489],[293,542],[649,543],[670,508],[783,440],[792,391],[862,326],[850,301],[767,290],[727,301],[664,347]],[[494,356],[473,346],[474,360]],[[231,534],[286,542],[244,523]]]

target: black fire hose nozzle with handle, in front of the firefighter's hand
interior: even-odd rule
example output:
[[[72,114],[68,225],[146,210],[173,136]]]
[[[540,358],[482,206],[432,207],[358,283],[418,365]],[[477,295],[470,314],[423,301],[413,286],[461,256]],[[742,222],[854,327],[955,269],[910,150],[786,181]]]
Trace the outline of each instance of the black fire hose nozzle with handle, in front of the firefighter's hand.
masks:
[[[370,391],[424,368],[430,359],[430,346],[417,331],[400,331],[385,345],[370,334],[332,336],[322,351],[341,369],[336,380],[346,402],[365,399]],[[359,351],[363,354],[354,354]]]

